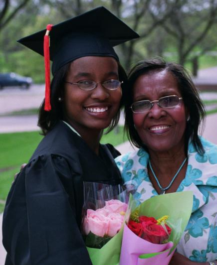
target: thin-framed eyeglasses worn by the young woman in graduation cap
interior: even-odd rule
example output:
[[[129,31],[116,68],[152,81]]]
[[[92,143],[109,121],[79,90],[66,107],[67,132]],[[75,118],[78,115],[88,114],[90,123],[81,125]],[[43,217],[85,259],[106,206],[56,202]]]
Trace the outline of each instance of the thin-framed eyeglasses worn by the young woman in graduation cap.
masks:
[[[111,79],[111,80],[106,80],[102,83],[101,82],[96,83],[91,80],[83,80],[78,83],[72,83],[72,82],[65,81],[65,83],[69,83],[70,85],[77,85],[82,90],[92,90],[97,87],[97,84],[101,84],[104,88],[108,90],[116,90],[121,86],[123,81],[121,82],[119,80]]]

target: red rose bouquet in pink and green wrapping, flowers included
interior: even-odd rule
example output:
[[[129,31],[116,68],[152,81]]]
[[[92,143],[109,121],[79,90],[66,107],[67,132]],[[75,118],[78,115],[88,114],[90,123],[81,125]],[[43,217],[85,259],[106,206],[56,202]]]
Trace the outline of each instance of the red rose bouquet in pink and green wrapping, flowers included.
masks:
[[[130,198],[120,265],[168,265],[188,224],[192,192],[154,196],[138,207]]]

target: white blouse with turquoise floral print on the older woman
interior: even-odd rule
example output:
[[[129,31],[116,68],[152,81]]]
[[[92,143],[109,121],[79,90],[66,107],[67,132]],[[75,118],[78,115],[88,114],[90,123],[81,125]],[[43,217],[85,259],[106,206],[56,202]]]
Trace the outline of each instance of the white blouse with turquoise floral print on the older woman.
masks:
[[[217,145],[203,137],[201,141],[204,155],[189,143],[186,176],[177,190],[194,193],[192,215],[177,251],[199,263],[217,259]],[[148,176],[149,154],[144,149],[115,160],[125,184],[136,188],[134,198],[138,203],[158,195]]]

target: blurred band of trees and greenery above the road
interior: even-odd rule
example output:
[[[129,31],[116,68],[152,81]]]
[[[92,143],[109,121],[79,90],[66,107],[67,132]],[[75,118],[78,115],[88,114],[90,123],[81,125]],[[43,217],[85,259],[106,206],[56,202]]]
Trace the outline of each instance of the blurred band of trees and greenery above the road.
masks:
[[[43,58],[16,40],[103,5],[140,38],[117,50],[128,70],[144,57],[162,56],[188,66],[216,66],[217,0],[1,0],[0,72],[15,72],[43,83]]]

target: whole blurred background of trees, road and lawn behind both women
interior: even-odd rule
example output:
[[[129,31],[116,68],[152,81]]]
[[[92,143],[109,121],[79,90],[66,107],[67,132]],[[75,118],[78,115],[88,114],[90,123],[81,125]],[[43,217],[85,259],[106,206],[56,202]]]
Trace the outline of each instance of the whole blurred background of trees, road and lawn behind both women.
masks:
[[[44,95],[43,57],[16,40],[100,5],[141,36],[116,49],[127,71],[156,56],[189,70],[207,108],[204,135],[217,143],[217,0],[0,0],[0,213],[14,173],[42,137],[37,109]],[[130,147],[123,124],[122,116],[102,142],[125,152]],[[4,254],[1,246],[0,265]]]

